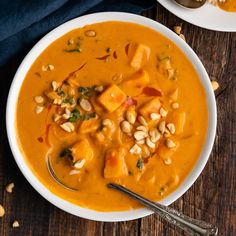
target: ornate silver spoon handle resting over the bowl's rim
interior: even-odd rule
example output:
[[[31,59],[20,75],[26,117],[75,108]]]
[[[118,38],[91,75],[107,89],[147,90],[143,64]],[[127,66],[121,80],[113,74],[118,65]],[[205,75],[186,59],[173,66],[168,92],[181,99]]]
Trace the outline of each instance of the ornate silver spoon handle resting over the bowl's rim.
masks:
[[[185,232],[187,232],[189,235],[217,235],[218,234],[218,228],[215,225],[212,225],[210,223],[196,220],[193,218],[190,218],[175,209],[172,209],[170,207],[161,205],[159,203],[152,202],[132,191],[129,189],[118,185],[109,183],[107,185],[109,188],[116,189],[122,193],[127,194],[128,196],[132,197],[133,199],[136,199],[139,201],[142,205],[146,206],[150,210],[157,213],[159,216],[161,216],[163,219],[168,221],[169,223],[178,226],[179,228],[183,229]]]

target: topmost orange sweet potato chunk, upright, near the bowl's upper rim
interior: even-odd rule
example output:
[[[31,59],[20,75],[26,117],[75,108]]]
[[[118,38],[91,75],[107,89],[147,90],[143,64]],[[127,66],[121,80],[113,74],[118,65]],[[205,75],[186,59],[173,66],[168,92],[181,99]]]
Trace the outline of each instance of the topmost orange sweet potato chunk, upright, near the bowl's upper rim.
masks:
[[[134,55],[131,59],[130,65],[139,70],[149,59],[150,57],[150,48],[143,45],[138,44]]]

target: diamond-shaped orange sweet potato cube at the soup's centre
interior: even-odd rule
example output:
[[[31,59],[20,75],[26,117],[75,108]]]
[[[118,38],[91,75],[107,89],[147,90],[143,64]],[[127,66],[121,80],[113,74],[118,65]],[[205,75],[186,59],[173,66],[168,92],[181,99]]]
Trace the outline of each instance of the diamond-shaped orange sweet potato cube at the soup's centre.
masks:
[[[109,111],[115,111],[126,99],[126,94],[115,84],[109,86],[98,101]]]

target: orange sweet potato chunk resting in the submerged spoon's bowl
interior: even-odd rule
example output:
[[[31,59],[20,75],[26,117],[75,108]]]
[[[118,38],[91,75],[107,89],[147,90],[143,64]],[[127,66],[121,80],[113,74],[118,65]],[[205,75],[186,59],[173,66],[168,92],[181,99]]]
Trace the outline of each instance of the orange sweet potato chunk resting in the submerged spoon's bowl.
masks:
[[[71,148],[73,162],[85,159],[86,162],[93,159],[93,149],[87,139],[83,139],[75,143]]]

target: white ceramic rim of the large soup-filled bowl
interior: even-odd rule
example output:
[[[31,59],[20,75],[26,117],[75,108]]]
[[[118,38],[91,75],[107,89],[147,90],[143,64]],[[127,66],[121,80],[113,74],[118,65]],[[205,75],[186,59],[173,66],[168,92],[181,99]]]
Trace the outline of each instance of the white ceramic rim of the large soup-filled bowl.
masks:
[[[193,50],[186,44],[181,38],[179,38],[175,33],[166,28],[165,26],[150,20],[148,18],[128,14],[121,12],[106,12],[106,13],[95,13],[91,15],[86,15],[82,17],[78,17],[74,20],[71,20],[67,23],[62,24],[57,27],[50,33],[48,33],[45,37],[43,37],[27,54],[20,67],[18,68],[15,77],[13,79],[10,92],[8,95],[7,101],[7,110],[6,110],[6,124],[7,124],[7,134],[10,143],[10,147],[12,153],[15,157],[16,163],[18,164],[20,170],[24,174],[25,178],[29,181],[29,183],[49,202],[54,204],[55,206],[61,208],[62,210],[69,212],[73,215],[80,216],[87,219],[97,220],[97,221],[125,221],[125,220],[133,220],[140,217],[144,217],[150,215],[152,212],[145,208],[137,209],[137,210],[129,210],[129,211],[121,211],[121,212],[97,212],[90,209],[81,208],[75,204],[72,204],[62,198],[59,198],[52,192],[50,192],[34,175],[31,171],[30,167],[27,165],[24,156],[22,155],[19,145],[17,142],[17,133],[15,127],[15,116],[16,116],[16,105],[18,94],[21,88],[21,84],[30,69],[33,62],[36,58],[41,54],[43,50],[45,50],[48,45],[50,45],[54,40],[66,34],[67,32],[83,27],[87,24],[93,24],[104,21],[124,21],[124,22],[132,22],[140,25],[147,26],[157,32],[160,32],[165,37],[172,40],[189,58],[189,60],[194,65],[201,83],[207,94],[207,107],[209,113],[209,121],[208,121],[208,130],[207,130],[207,138],[202,150],[201,156],[194,166],[193,170],[185,181],[181,184],[181,186],[176,189],[176,191],[172,192],[165,199],[163,199],[160,203],[164,205],[169,205],[182,196],[188,188],[194,183],[197,177],[202,172],[208,157],[210,155],[215,131],[216,131],[216,102],[213,90],[211,88],[210,80],[208,75]]]

